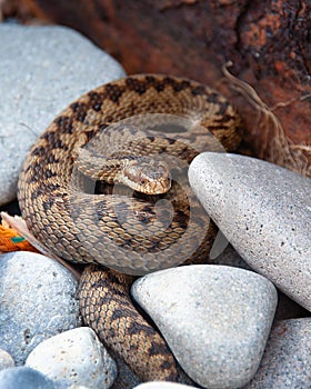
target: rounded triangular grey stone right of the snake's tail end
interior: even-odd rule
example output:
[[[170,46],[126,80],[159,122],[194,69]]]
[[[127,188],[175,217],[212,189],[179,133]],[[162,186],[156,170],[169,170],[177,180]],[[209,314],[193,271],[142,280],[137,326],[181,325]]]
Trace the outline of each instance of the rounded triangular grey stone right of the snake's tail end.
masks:
[[[202,387],[240,388],[255,373],[277,307],[277,290],[268,279],[195,265],[144,276],[132,295]]]

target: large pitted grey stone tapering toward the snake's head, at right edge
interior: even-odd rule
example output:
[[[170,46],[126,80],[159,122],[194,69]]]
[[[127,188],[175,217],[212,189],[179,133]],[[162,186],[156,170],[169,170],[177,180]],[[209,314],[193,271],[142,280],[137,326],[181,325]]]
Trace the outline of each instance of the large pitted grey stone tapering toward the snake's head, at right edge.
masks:
[[[311,180],[254,158],[213,152],[192,161],[189,179],[240,256],[311,310]]]

